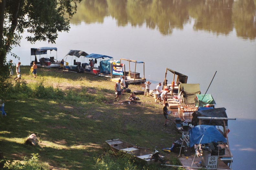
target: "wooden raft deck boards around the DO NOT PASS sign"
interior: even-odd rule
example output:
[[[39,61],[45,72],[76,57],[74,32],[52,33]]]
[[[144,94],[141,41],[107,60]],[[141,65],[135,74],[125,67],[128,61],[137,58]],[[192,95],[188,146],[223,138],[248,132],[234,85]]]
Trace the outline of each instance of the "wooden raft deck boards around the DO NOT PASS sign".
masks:
[[[194,157],[188,157],[188,159],[186,159],[186,157],[180,157],[180,163],[182,164],[182,166],[189,166],[189,168],[185,168],[187,170],[190,170],[190,167],[192,165],[193,162],[193,158]],[[201,157],[196,157],[193,163],[193,166],[191,168],[191,170],[198,170],[200,168],[203,168],[202,165],[199,164],[199,162],[202,160]],[[193,168],[194,167],[194,168]],[[228,165],[226,165],[223,161],[221,161],[220,159],[218,159],[218,169],[230,169]],[[206,168],[205,168],[206,169]]]

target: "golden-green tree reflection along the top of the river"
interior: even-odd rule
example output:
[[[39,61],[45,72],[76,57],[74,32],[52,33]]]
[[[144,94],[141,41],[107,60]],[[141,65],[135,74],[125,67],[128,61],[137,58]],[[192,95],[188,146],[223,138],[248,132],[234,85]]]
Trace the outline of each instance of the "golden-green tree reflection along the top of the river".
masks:
[[[256,0],[83,0],[70,23],[103,23],[107,16],[118,26],[145,23],[163,35],[194,19],[194,30],[228,35],[235,28],[243,39],[256,37]]]

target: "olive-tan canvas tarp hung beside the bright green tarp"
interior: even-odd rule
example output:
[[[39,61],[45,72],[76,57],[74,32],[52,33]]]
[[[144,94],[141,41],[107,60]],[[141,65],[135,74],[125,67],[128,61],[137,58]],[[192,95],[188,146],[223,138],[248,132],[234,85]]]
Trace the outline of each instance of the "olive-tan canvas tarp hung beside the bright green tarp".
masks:
[[[195,98],[197,97],[197,94],[201,94],[199,84],[179,84],[179,90],[178,94],[181,90],[184,90],[183,98],[184,103],[183,104],[195,104]]]

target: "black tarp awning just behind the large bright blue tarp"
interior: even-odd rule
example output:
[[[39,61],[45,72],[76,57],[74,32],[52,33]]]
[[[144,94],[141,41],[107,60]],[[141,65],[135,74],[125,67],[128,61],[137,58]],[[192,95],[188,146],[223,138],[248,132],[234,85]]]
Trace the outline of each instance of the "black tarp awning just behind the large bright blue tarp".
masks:
[[[197,126],[198,125],[198,118],[197,117],[210,117],[210,118],[228,118],[226,109],[225,108],[215,108],[215,109],[208,109],[208,110],[200,110],[195,111],[192,114],[192,125]],[[224,120],[226,126],[228,126],[228,120]],[[201,125],[213,125],[213,126],[224,126],[223,120],[217,120],[217,119],[210,119],[205,120],[201,119]]]

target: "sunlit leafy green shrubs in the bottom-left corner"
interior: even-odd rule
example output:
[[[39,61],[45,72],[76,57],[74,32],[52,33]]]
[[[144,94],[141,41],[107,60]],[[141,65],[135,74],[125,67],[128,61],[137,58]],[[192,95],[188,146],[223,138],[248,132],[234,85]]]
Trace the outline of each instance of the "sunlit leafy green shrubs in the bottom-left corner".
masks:
[[[49,170],[50,166],[47,163],[43,163],[39,161],[38,154],[31,154],[31,158],[24,158],[24,163],[14,160],[1,160],[1,164],[4,165],[3,169],[11,169],[11,170]]]

